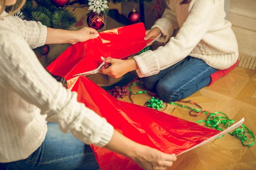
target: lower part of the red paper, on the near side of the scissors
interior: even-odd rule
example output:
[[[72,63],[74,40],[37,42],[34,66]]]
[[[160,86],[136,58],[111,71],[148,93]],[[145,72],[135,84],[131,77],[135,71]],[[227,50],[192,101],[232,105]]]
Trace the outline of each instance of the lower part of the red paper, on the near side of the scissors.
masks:
[[[68,87],[78,93],[79,102],[105,117],[120,133],[165,153],[182,153],[220,133],[161,111],[119,101],[86,77],[68,80]],[[101,170],[140,170],[125,156],[91,147]]]

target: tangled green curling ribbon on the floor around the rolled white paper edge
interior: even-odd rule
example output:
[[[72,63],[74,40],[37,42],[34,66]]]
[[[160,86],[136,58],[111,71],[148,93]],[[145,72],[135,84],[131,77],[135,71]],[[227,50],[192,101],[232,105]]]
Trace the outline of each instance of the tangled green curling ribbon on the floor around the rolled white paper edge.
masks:
[[[179,106],[181,108],[187,108],[197,113],[201,112],[201,110],[199,109],[195,109],[186,105],[181,105],[175,102],[169,102],[169,104]],[[220,127],[221,125],[225,128],[229,128],[230,125],[232,125],[235,122],[234,119],[229,119],[228,116],[222,112],[208,113],[207,111],[203,111],[202,113],[208,115],[207,120],[199,120],[199,121],[196,121],[195,123],[205,122],[206,127],[215,128],[216,130],[223,131],[223,129]],[[248,127],[246,127],[245,125],[241,125],[241,127],[238,127],[237,129],[233,130],[233,132],[229,132],[229,134],[232,136],[236,136],[237,139],[240,139],[241,143],[244,146],[250,147],[250,146],[253,146],[255,143],[255,136],[253,132],[249,130]],[[218,138],[221,138],[222,136]]]

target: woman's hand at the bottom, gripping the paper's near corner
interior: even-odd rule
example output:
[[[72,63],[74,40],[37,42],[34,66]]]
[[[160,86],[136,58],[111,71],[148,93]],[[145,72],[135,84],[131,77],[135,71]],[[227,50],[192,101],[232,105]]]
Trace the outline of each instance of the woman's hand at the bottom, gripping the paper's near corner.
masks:
[[[129,156],[144,170],[166,170],[176,161],[175,154],[163,153],[154,148],[140,145],[133,156]]]

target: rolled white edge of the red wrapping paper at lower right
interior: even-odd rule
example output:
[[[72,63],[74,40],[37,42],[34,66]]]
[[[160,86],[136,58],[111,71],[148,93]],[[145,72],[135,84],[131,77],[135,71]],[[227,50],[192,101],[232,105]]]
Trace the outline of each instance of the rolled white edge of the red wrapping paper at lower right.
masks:
[[[200,146],[202,146],[202,145],[204,145],[204,144],[207,144],[207,143],[213,141],[214,139],[218,138],[219,136],[224,135],[224,134],[226,134],[226,133],[228,133],[228,132],[230,132],[230,131],[232,131],[232,130],[238,128],[238,127],[240,127],[243,122],[244,122],[244,118],[242,118],[242,119],[241,119],[239,122],[237,122],[236,124],[230,126],[228,129],[222,131],[221,133],[218,133],[217,135],[210,137],[209,139],[207,139],[207,140],[201,142],[200,144],[197,144],[197,145],[195,145],[195,146],[193,146],[193,147],[191,147],[191,148],[189,148],[189,149],[187,149],[187,150],[184,150],[183,152],[177,154],[176,156],[179,156],[179,155],[181,155],[181,154],[183,154],[183,153],[186,153],[186,152],[188,152],[188,151],[190,151],[190,150],[192,150],[192,149],[195,149],[195,148],[197,148],[197,147],[200,147]]]

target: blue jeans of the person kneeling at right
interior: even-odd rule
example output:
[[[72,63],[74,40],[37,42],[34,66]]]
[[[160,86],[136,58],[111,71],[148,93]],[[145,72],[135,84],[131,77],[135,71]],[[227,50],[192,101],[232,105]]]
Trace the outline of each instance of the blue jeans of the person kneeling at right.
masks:
[[[209,85],[210,75],[216,71],[203,60],[188,56],[158,74],[143,77],[143,82],[164,101],[175,102]]]

